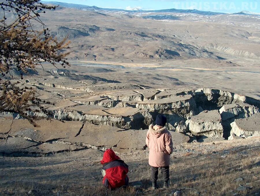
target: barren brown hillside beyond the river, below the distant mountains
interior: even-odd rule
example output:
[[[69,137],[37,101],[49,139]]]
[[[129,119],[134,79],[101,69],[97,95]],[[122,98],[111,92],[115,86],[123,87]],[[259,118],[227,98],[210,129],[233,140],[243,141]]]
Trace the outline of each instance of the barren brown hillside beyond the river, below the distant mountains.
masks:
[[[73,50],[69,59],[75,61],[141,63],[198,58],[226,63],[260,57],[257,15],[174,9],[119,11],[61,4],[42,16],[53,35],[59,39],[69,35]]]

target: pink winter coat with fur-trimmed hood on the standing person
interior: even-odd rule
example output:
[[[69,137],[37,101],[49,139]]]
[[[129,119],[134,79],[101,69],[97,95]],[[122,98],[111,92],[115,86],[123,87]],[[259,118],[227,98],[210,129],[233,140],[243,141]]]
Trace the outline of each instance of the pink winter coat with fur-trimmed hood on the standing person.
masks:
[[[146,134],[146,145],[149,147],[149,165],[167,167],[170,165],[170,154],[173,152],[172,136],[166,127],[149,126]]]

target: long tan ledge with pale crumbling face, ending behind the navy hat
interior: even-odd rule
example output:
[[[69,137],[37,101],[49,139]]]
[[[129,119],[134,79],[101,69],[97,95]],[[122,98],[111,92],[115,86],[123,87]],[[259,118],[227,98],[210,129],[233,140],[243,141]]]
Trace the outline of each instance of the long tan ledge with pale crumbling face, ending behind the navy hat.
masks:
[[[76,105],[67,108],[50,108],[51,117],[66,121],[83,121],[110,125],[124,129],[146,129],[153,121],[147,110],[132,107],[105,108],[97,105]],[[40,116],[38,114],[38,116]]]

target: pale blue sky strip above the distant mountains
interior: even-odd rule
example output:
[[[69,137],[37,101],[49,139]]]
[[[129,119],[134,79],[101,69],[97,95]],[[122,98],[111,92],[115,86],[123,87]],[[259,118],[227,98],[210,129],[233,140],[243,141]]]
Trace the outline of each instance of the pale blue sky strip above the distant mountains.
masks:
[[[51,1],[51,0],[45,0]],[[53,1],[53,0],[52,0]],[[95,5],[100,8],[119,8],[129,10],[139,8],[142,10],[160,9],[197,9],[212,12],[235,13],[250,11],[260,13],[260,0],[57,0],[64,3],[75,3],[82,5]]]

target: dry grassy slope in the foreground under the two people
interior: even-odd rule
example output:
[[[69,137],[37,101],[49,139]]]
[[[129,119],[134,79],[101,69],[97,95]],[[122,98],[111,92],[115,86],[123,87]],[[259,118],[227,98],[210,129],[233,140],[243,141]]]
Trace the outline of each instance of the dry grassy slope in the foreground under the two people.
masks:
[[[47,164],[42,164],[43,161]],[[82,166],[86,162],[93,164]],[[142,189],[129,186],[106,190],[101,185],[101,165],[86,157],[77,160],[75,157],[18,160],[2,157],[0,195],[169,195],[177,190],[183,195],[196,195],[196,192],[203,195],[254,195],[260,190],[259,182],[255,182],[260,179],[260,147],[257,145],[174,159],[170,165],[170,187],[155,191],[151,190],[147,160],[127,160],[127,163],[130,182],[142,180]],[[238,177],[244,180],[235,182]],[[162,186],[160,173],[158,183]],[[237,191],[239,184],[248,188]]]

